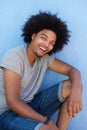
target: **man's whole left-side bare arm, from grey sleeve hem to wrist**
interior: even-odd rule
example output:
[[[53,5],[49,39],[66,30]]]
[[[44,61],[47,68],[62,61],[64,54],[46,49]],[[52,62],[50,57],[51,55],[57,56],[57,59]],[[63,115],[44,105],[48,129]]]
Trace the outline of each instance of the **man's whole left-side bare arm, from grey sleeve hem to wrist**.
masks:
[[[44,116],[37,113],[20,99],[20,76],[17,73],[4,69],[4,82],[9,109],[23,117],[32,118],[38,121],[45,120]]]

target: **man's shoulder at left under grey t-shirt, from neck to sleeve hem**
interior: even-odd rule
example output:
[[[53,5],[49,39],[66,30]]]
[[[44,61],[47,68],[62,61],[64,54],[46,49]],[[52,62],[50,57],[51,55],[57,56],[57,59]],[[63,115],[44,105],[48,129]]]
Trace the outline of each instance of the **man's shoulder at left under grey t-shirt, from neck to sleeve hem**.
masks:
[[[24,57],[24,46],[12,48],[8,50],[8,52],[3,56],[3,58],[0,61],[0,66],[21,74],[23,69]]]

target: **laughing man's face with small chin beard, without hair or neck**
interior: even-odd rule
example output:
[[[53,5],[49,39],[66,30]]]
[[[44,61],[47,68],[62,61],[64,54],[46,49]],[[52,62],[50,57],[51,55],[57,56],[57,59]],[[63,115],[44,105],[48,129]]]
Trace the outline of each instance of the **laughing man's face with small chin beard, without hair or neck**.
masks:
[[[44,29],[32,35],[31,47],[37,57],[41,57],[50,52],[56,42],[56,34],[48,29]]]

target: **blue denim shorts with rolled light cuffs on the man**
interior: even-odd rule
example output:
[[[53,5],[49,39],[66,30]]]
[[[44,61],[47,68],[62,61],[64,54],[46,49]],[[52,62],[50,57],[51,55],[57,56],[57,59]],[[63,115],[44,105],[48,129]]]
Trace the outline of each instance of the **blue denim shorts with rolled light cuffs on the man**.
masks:
[[[65,100],[61,96],[63,82],[60,82],[38,94],[28,103],[34,110],[49,118]],[[44,123],[17,115],[11,110],[0,115],[0,130],[39,130]]]

